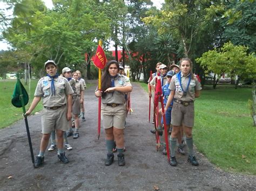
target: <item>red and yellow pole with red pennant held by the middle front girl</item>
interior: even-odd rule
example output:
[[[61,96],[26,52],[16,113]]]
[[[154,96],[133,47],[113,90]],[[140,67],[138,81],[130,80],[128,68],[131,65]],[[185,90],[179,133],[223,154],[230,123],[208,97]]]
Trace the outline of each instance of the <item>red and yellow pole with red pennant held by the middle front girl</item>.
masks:
[[[104,69],[106,65],[106,56],[105,52],[102,48],[102,40],[99,40],[99,45],[96,51],[95,59],[93,60],[94,65],[99,69],[99,84],[98,84],[98,90],[102,90],[102,69]],[[101,106],[102,106],[102,97],[99,97],[98,102],[98,139],[100,136],[100,112],[101,112]]]

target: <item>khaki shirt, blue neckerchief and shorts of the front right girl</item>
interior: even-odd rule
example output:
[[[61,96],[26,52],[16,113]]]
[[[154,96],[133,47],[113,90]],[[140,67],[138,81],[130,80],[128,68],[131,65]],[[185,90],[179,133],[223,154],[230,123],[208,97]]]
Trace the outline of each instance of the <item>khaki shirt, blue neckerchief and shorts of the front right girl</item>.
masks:
[[[184,76],[181,72],[172,77],[170,90],[175,90],[172,121],[174,126],[180,126],[183,122],[187,127],[194,126],[194,93],[201,90],[201,84],[197,78],[192,79],[191,74]]]

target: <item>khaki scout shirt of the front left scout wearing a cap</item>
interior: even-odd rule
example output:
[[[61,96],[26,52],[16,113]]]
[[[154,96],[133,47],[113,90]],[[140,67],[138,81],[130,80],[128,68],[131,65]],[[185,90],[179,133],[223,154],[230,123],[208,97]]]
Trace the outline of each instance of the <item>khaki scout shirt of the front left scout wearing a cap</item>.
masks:
[[[36,87],[34,96],[43,97],[44,107],[56,107],[66,104],[66,98],[73,90],[65,77],[58,76],[54,79],[55,95],[51,92],[52,79],[48,76],[41,78]]]

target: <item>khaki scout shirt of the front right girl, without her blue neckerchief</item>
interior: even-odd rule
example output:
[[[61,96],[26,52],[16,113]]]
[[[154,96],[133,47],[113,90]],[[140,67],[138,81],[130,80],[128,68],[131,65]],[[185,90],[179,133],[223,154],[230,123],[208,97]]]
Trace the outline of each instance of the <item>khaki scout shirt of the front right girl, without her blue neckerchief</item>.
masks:
[[[187,83],[189,80],[189,75],[184,76],[182,73],[180,74],[182,88],[186,91]],[[197,80],[197,77],[194,77],[194,80],[191,79],[190,85],[188,86],[186,96],[183,96],[183,91],[181,90],[179,79],[177,75],[172,76],[172,80],[169,86],[170,90],[175,90],[174,99],[179,101],[191,102],[194,101],[194,93],[195,91],[201,90],[201,83]]]

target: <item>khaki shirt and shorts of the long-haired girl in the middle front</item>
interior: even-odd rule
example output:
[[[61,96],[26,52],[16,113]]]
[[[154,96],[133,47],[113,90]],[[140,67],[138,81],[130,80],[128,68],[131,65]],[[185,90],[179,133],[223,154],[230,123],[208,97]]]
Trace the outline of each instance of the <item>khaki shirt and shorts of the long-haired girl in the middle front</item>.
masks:
[[[117,74],[112,78],[112,87],[132,86],[130,79],[124,75]],[[125,93],[113,91],[102,97],[102,117],[104,129],[112,126],[124,129],[126,118]]]

